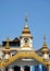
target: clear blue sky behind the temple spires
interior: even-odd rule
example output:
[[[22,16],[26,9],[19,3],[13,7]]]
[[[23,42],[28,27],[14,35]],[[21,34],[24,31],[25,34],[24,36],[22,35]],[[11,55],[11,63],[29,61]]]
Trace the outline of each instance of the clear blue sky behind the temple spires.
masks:
[[[43,35],[50,48],[50,0],[0,0],[0,44],[8,35],[10,39],[20,37],[25,13],[34,36],[34,48],[42,47]]]

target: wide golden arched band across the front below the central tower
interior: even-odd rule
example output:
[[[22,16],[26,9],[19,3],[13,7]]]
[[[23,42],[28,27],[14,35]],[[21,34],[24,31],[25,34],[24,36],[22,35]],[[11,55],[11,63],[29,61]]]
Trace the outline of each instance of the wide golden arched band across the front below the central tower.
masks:
[[[2,68],[7,67],[7,66],[9,66],[10,63],[14,62],[16,59],[20,59],[20,58],[33,58],[33,59],[36,59],[38,62],[40,62],[40,63],[42,63],[45,66],[50,63],[50,62],[45,62],[43,58],[39,57],[36,52],[33,52],[33,51],[27,52],[27,51],[25,51],[25,52],[17,52],[13,57],[9,58],[8,61],[1,62],[0,67],[2,67]]]

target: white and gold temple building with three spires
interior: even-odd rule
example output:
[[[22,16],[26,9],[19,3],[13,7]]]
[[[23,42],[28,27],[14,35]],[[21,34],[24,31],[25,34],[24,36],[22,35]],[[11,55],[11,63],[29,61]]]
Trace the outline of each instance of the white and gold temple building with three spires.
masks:
[[[50,49],[43,36],[43,45],[35,50],[33,35],[26,24],[20,38],[2,42],[0,45],[0,71],[50,71]]]

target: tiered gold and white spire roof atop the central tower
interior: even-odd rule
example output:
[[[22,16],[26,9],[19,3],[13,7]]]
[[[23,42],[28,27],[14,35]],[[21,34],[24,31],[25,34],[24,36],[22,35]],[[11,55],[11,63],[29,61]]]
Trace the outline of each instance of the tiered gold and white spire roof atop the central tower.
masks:
[[[24,29],[22,31],[22,36],[20,38],[22,38],[22,37],[30,37],[30,38],[33,38],[33,36],[30,35],[30,31],[28,28],[28,25],[27,25],[27,21],[28,21],[28,19],[26,16],[25,17],[26,25],[24,26]]]

